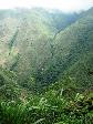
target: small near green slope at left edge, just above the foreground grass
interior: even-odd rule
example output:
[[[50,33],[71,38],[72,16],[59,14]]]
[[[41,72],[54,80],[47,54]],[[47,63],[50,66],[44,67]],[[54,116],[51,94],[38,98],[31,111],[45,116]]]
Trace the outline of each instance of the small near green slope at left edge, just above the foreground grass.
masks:
[[[14,72],[0,68],[0,101],[24,103],[31,94],[30,91],[19,85]]]

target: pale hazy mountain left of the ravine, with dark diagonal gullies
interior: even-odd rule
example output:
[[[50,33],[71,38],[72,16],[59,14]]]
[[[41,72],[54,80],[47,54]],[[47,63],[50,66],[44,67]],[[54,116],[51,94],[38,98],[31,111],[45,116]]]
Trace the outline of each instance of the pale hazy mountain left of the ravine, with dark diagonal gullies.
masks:
[[[41,82],[40,73],[45,72],[51,62],[55,34],[75,22],[78,14],[41,8],[3,10],[0,13],[0,65],[17,72],[21,81],[32,76]]]

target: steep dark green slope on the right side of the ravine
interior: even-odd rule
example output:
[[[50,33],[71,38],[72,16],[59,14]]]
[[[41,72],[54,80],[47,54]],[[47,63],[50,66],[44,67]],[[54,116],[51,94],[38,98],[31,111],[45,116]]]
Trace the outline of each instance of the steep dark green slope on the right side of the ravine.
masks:
[[[58,76],[71,76],[78,86],[93,86],[93,9],[71,27],[59,33],[54,41],[54,71]]]

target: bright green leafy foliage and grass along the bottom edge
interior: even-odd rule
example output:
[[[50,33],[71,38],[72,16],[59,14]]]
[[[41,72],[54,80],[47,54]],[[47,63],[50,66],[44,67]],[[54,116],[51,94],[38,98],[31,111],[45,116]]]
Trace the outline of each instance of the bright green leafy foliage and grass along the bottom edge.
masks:
[[[23,102],[0,102],[0,124],[93,124],[92,93],[68,101],[50,91]]]

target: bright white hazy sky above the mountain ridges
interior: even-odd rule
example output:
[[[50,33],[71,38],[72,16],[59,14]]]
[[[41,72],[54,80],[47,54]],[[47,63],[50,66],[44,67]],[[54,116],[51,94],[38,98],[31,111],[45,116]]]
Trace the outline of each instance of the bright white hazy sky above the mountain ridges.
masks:
[[[63,12],[87,10],[93,0],[0,0],[0,9],[43,7]]]

